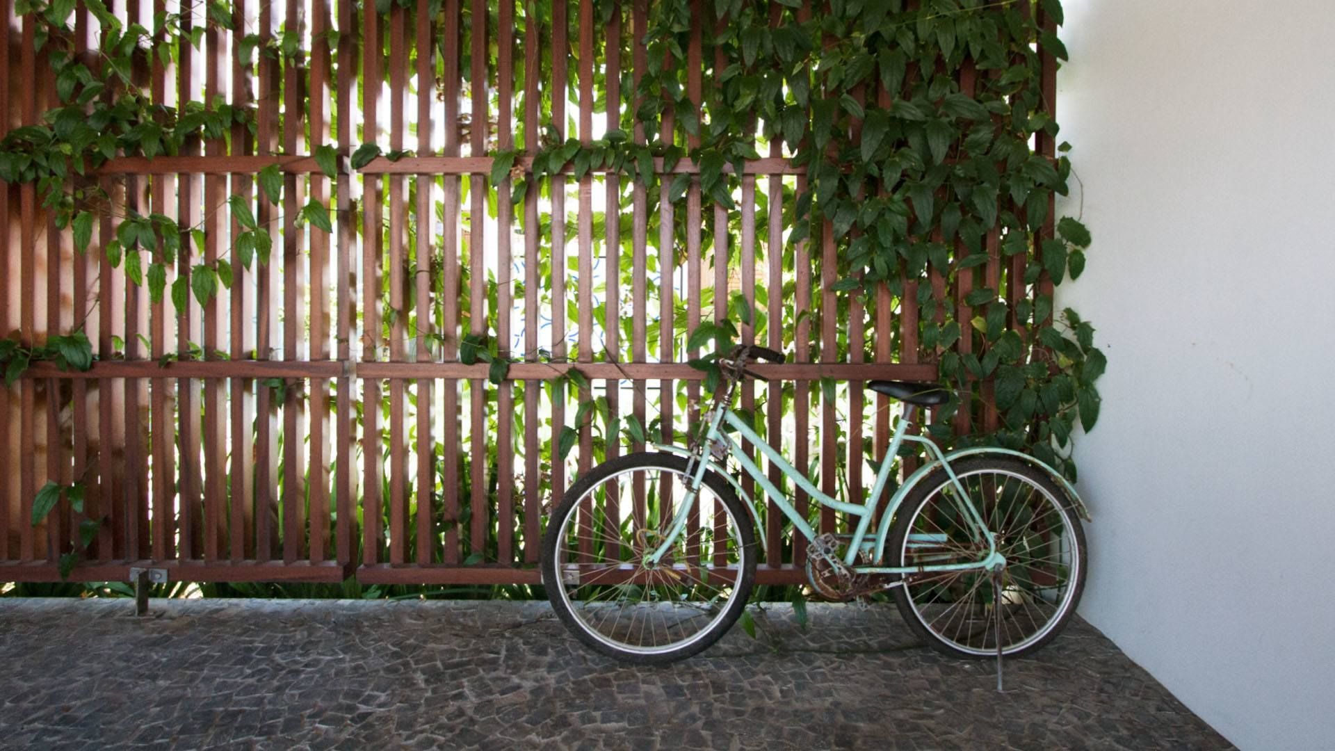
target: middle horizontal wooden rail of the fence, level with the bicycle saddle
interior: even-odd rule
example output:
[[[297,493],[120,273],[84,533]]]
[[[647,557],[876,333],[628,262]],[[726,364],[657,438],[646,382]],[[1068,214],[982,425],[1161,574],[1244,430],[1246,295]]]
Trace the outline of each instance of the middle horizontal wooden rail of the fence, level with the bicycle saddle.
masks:
[[[346,365],[346,367],[344,367]],[[756,363],[757,376],[774,381],[936,381],[936,365],[901,362],[792,362]],[[507,381],[546,381],[578,370],[594,381],[701,381],[705,373],[682,362],[515,362],[506,373]],[[485,380],[487,363],[462,362],[358,362],[336,359],[316,362],[278,359],[211,359],[172,361],[159,365],[152,359],[105,359],[93,362],[91,370],[60,370],[53,362],[35,362],[23,377],[36,380],[75,378],[338,378],[344,374],[378,380]]]

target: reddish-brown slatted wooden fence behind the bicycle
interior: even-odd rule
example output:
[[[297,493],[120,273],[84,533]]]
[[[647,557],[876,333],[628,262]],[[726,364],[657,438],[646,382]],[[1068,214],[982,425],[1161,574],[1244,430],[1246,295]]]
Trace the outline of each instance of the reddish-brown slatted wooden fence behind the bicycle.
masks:
[[[0,4],[8,131],[57,100],[37,20]],[[194,258],[167,269],[168,289],[230,257],[244,230],[232,196],[254,207],[272,257],[232,263],[230,289],[206,305],[152,301],[109,263],[117,216],[100,218],[80,254],[33,184],[7,186],[0,333],[33,343],[81,327],[97,361],[85,373],[36,363],[3,392],[0,581],[59,579],[59,556],[93,518],[76,580],[125,580],[131,565],[152,565],[196,581],[537,583],[542,513],[571,477],[641,449],[634,426],[650,441],[686,430],[702,377],[686,365],[686,334],[726,315],[733,293],[756,311],[744,339],[790,358],[757,366],[774,381],[749,384],[742,406],[822,489],[862,497],[864,452],[880,458],[890,410],[862,381],[937,377],[934,353],[918,346],[918,307],[900,305],[916,299],[918,279],[865,301],[830,290],[832,233],[785,242],[781,208],[790,212],[805,178],[777,142],[729,178],[733,210],[702,199],[698,182],[669,200],[672,175],[645,184],[594,170],[575,180],[567,168],[513,204],[511,175],[490,184],[491,154],[519,148],[527,164],[547,127],[585,142],[622,128],[645,142],[634,84],[647,67],[635,41],[647,0],[362,5],[235,0],[238,31],[204,25],[195,7],[182,28],[187,39],[204,28],[198,48],[178,44],[135,71],[155,103],[227,102],[254,115],[226,138],[117,156],[91,178],[113,191],[120,214],[200,230]],[[147,28],[178,9],[108,7]],[[76,53],[99,64],[88,52],[97,21],[83,3],[72,28]],[[256,41],[254,61],[243,59]],[[688,61],[698,102],[714,75],[698,25]],[[1048,59],[1052,94],[1055,69]],[[670,118],[663,134],[694,140]],[[411,152],[350,170],[363,143]],[[312,158],[326,144],[339,155],[332,179]],[[1040,139],[1039,151],[1051,156],[1052,146]],[[256,182],[270,164],[283,175],[278,204]],[[670,172],[694,170],[684,159]],[[300,222],[312,200],[330,206],[332,231]],[[997,253],[996,230],[987,249],[980,283],[1003,289],[1023,273]],[[921,283],[972,318],[972,273],[932,271]],[[499,385],[487,362],[461,361],[461,346],[483,335],[517,359]],[[968,351],[969,341],[956,346]],[[996,420],[964,410],[959,428],[971,418]],[[577,432],[569,458],[563,426]],[[81,481],[84,509],[63,501],[33,527],[48,480]],[[760,581],[804,580],[802,551],[778,521],[769,517]],[[824,528],[836,524],[821,513]]]

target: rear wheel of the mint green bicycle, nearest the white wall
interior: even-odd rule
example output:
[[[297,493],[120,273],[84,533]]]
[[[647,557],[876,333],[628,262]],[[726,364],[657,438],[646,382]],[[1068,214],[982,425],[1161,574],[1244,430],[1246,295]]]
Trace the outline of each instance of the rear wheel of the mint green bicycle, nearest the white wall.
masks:
[[[1007,559],[1000,601],[983,569],[905,575],[894,589],[900,613],[941,652],[975,657],[1020,655],[1043,647],[1080,603],[1085,539],[1065,492],[1036,468],[1012,458],[977,457],[952,465],[961,497],[944,469],[928,474],[896,513],[890,551],[904,567],[965,564],[988,553],[967,522],[972,501]],[[1000,628],[995,608],[1001,608]]]

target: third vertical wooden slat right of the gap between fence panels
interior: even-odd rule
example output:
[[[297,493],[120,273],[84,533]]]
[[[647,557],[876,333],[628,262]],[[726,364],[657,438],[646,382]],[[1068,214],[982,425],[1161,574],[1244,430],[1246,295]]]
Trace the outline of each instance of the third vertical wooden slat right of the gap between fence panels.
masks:
[[[418,154],[431,151],[431,106],[435,100],[435,56],[431,45],[431,7],[418,3],[417,8],[417,78],[418,78]],[[435,206],[431,202],[431,188],[435,179],[417,176],[417,359],[431,359],[427,343],[433,329],[431,321],[431,218]],[[419,565],[431,563],[434,531],[433,494],[435,492],[435,450],[431,445],[431,380],[417,382],[418,445],[417,445],[417,561]]]

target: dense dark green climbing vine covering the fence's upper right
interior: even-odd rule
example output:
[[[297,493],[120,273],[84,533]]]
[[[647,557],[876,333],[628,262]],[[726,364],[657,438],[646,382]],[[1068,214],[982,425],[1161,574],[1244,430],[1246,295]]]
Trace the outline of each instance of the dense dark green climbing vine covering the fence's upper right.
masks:
[[[1067,51],[1039,16],[1060,24],[1060,1],[701,5],[712,19],[698,17],[690,0],[651,9],[649,72],[634,112],[643,132],[655,134],[649,143],[630,143],[622,130],[593,143],[561,140],[549,127],[529,170],[514,167],[518,151],[495,152],[493,183],[515,171],[518,202],[529,180],[547,174],[565,170],[578,179],[610,170],[647,183],[654,158],[668,172],[689,158],[698,176],[673,176],[668,198],[678,200],[694,184],[705,202],[733,210],[737,175],[760,156],[757,139],[781,143],[805,170],[788,243],[818,242],[828,224],[837,249],[833,291],[858,295],[870,310],[884,285],[900,314],[917,309],[921,350],[960,394],[937,413],[933,436],[1024,448],[1075,477],[1071,436],[1077,424],[1089,430],[1097,421],[1095,381],[1107,361],[1093,346],[1093,326],[1071,309],[1055,314],[1051,294],[1083,273],[1091,245],[1077,216],[1060,218],[1055,235],[1044,237],[1052,196],[1067,195],[1071,179],[1069,144],[1056,158],[1033,147],[1036,138],[1059,134],[1043,102],[1040,51],[1060,60]],[[700,44],[721,55],[706,67],[698,104],[685,68],[697,28]],[[665,116],[676,123],[666,140],[657,135]],[[684,150],[681,135],[697,146]],[[1013,273],[987,286],[988,263]],[[933,294],[933,277],[937,287],[972,282],[961,295],[969,315]],[[728,331],[736,337],[734,322],[694,331],[689,349],[718,339],[701,367],[710,370],[725,351]],[[812,335],[817,346],[820,333]],[[961,354],[965,338],[972,346]],[[896,346],[904,343],[896,338]],[[977,388],[983,382],[993,385],[991,398]],[[987,409],[997,410],[997,430],[955,434],[959,410]]]

